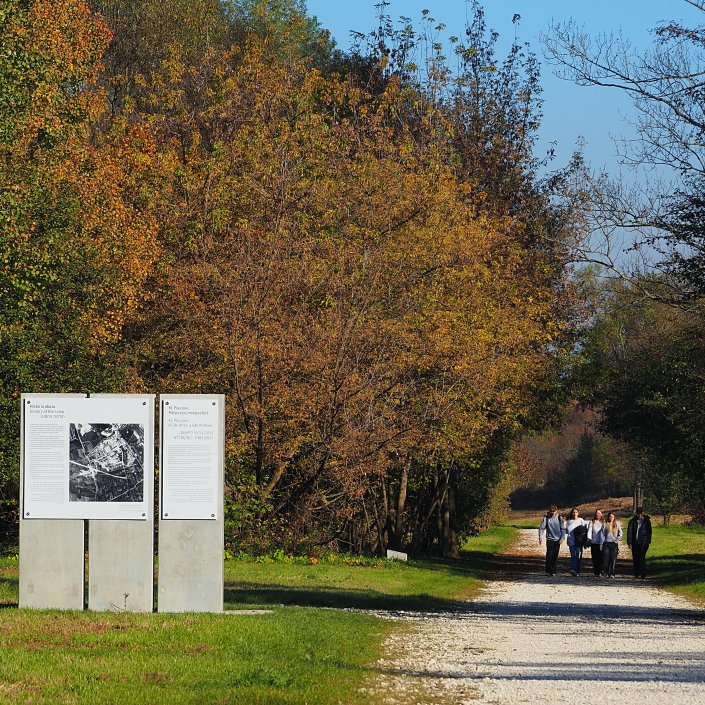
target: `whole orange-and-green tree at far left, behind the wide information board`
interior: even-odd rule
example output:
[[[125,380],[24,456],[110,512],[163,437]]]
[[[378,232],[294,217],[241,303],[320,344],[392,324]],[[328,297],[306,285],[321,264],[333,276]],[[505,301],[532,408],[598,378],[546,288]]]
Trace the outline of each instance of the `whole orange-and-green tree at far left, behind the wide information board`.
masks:
[[[0,4],[0,399],[5,520],[17,502],[19,394],[112,389],[109,364],[154,260],[148,139],[91,139],[110,34],[78,0]]]

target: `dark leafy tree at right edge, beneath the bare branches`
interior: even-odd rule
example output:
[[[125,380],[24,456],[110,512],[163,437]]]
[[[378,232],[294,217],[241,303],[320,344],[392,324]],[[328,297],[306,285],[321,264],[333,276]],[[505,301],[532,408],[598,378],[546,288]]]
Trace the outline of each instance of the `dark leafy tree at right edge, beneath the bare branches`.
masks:
[[[657,291],[657,282],[646,283]],[[702,515],[702,318],[614,284],[585,348],[603,430],[636,453],[647,493],[668,516],[688,487]]]

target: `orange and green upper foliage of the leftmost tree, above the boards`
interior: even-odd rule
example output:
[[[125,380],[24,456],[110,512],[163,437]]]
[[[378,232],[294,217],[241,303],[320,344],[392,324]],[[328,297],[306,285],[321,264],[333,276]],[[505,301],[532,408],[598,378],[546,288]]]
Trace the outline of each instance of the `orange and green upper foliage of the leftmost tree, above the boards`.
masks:
[[[148,131],[116,124],[101,134],[107,104],[98,87],[111,37],[79,0],[19,4],[6,15],[0,175],[2,324],[41,358],[41,321],[100,353],[117,341],[158,254],[144,179],[153,169]],[[142,196],[140,196],[142,192]],[[18,312],[25,319],[20,323]],[[68,321],[75,319],[73,337]],[[35,332],[30,332],[35,331]],[[41,375],[41,373],[39,373]]]

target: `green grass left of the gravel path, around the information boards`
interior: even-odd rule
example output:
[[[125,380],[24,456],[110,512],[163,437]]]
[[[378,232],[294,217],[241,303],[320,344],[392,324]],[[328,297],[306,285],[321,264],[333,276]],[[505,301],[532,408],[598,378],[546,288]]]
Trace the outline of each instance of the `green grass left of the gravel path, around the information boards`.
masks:
[[[471,539],[460,561],[228,560],[226,609],[273,610],[247,616],[18,610],[17,561],[1,559],[0,703],[378,705],[361,689],[406,625],[322,608],[447,609],[514,534]]]

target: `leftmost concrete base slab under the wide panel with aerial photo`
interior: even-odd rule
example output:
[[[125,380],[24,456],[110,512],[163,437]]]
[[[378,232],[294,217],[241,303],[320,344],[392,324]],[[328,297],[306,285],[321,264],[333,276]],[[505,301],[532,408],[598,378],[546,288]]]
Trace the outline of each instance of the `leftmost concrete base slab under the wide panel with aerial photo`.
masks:
[[[20,607],[82,610],[82,519],[20,519]]]

